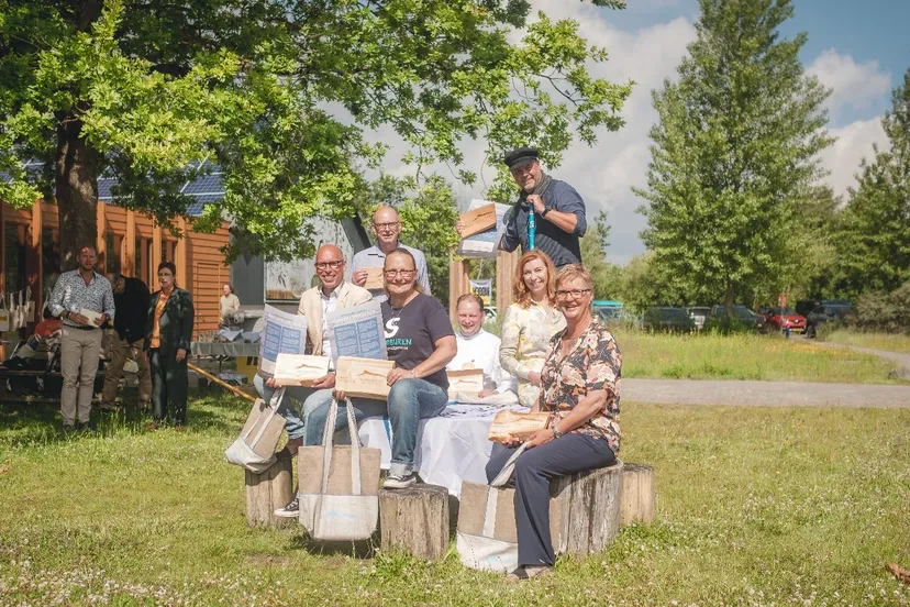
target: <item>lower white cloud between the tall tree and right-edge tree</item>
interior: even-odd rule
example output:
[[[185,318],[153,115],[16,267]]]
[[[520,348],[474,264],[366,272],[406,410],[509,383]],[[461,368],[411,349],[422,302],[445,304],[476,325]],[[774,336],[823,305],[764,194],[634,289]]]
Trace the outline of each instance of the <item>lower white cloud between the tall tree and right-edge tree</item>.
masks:
[[[859,161],[872,161],[873,144],[881,150],[888,148],[888,137],[881,128],[881,118],[858,120],[846,126],[830,129],[829,133],[837,137],[828,150],[822,152],[822,165],[830,172],[825,181],[835,195],[845,194],[847,187],[856,185]]]

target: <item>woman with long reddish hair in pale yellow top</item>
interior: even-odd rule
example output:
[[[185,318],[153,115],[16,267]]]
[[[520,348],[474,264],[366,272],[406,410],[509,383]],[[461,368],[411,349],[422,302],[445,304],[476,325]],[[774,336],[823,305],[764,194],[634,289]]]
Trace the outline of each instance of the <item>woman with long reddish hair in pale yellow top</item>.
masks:
[[[521,256],[512,283],[515,302],[502,320],[499,363],[518,378],[519,401],[537,404],[541,369],[550,352],[550,339],[566,325],[554,307],[556,266],[546,254],[529,251]]]

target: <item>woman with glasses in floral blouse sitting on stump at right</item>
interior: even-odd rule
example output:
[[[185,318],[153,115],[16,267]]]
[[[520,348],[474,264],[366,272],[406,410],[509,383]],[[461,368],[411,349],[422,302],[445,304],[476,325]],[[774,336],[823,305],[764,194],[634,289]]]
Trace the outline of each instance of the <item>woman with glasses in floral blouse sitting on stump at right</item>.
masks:
[[[613,335],[591,316],[593,282],[580,265],[556,279],[556,304],[566,328],[553,336],[535,409],[552,411],[550,428],[526,441],[515,462],[519,569],[511,580],[548,573],[555,561],[550,537],[550,479],[615,463],[620,446],[620,355]],[[492,481],[518,445],[487,464]]]

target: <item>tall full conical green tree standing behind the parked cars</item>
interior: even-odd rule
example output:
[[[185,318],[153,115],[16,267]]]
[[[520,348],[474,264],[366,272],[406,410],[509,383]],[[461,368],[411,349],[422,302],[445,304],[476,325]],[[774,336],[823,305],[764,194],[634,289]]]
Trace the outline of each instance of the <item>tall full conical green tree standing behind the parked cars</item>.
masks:
[[[678,81],[653,95],[642,236],[689,301],[730,307],[794,255],[798,201],[831,140],[829,92],[799,60],[806,34],[778,32],[791,14],[790,0],[701,0]]]

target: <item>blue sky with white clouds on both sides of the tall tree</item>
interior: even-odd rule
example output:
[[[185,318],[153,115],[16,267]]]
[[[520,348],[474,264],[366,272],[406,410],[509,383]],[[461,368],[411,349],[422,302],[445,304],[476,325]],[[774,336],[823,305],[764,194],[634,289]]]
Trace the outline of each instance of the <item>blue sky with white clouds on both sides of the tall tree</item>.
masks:
[[[592,44],[606,48],[610,60],[591,71],[611,81],[634,80],[635,89],[625,107],[625,126],[600,133],[596,147],[578,143],[564,155],[561,166],[550,170],[578,189],[589,220],[600,210],[610,216],[611,246],[608,257],[628,263],[644,252],[639,233],[645,219],[635,209],[643,200],[633,186],[645,185],[650,159],[647,131],[656,120],[651,91],[665,78],[674,78],[676,66],[695,38],[698,0],[626,0],[629,7],[613,11],[578,0],[531,0],[533,10],[554,19],[574,19]],[[890,104],[891,89],[910,68],[910,0],[796,0],[795,16],[781,34],[792,37],[807,32],[801,59],[808,73],[833,90],[828,101],[829,133],[836,143],[821,154],[829,170],[825,181],[843,195],[855,184],[854,174],[873,144],[887,142],[881,114]],[[381,136],[381,135],[380,135]],[[384,137],[385,139],[385,137]],[[386,141],[388,141],[386,139]],[[466,158],[482,158],[484,142],[464,145]],[[491,177],[484,166],[466,166]],[[406,173],[395,151],[385,169]],[[457,187],[459,203],[482,198],[482,186]]]

